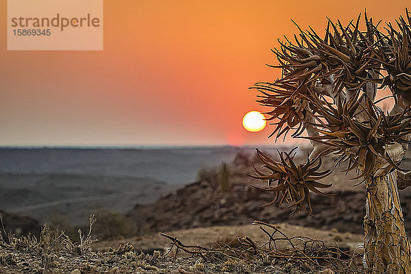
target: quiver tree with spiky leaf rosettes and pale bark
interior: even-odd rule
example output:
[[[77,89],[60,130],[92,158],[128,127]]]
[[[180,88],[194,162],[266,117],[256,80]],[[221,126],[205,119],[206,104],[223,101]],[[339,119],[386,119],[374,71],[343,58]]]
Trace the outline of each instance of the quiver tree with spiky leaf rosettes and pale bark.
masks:
[[[292,133],[306,138],[313,150],[297,165],[292,152],[279,153],[280,161],[258,151],[266,171],[255,178],[268,181],[273,202],[292,201],[295,211],[312,214],[310,191],[330,187],[317,180],[331,172],[318,172],[321,156],[336,155],[345,172],[366,184],[364,267],[370,273],[411,274],[410,241],[406,235],[398,190],[411,184],[410,172],[399,167],[411,137],[411,18],[364,25],[351,20],[343,25],[328,20],[325,35],[311,27],[292,40],[279,40],[273,53],[282,77],[256,83],[258,102],[271,107],[267,120],[275,124],[275,140]],[[377,93],[388,88],[395,104],[383,111]],[[387,97],[387,98],[388,98]],[[382,100],[386,100],[383,98]]]

